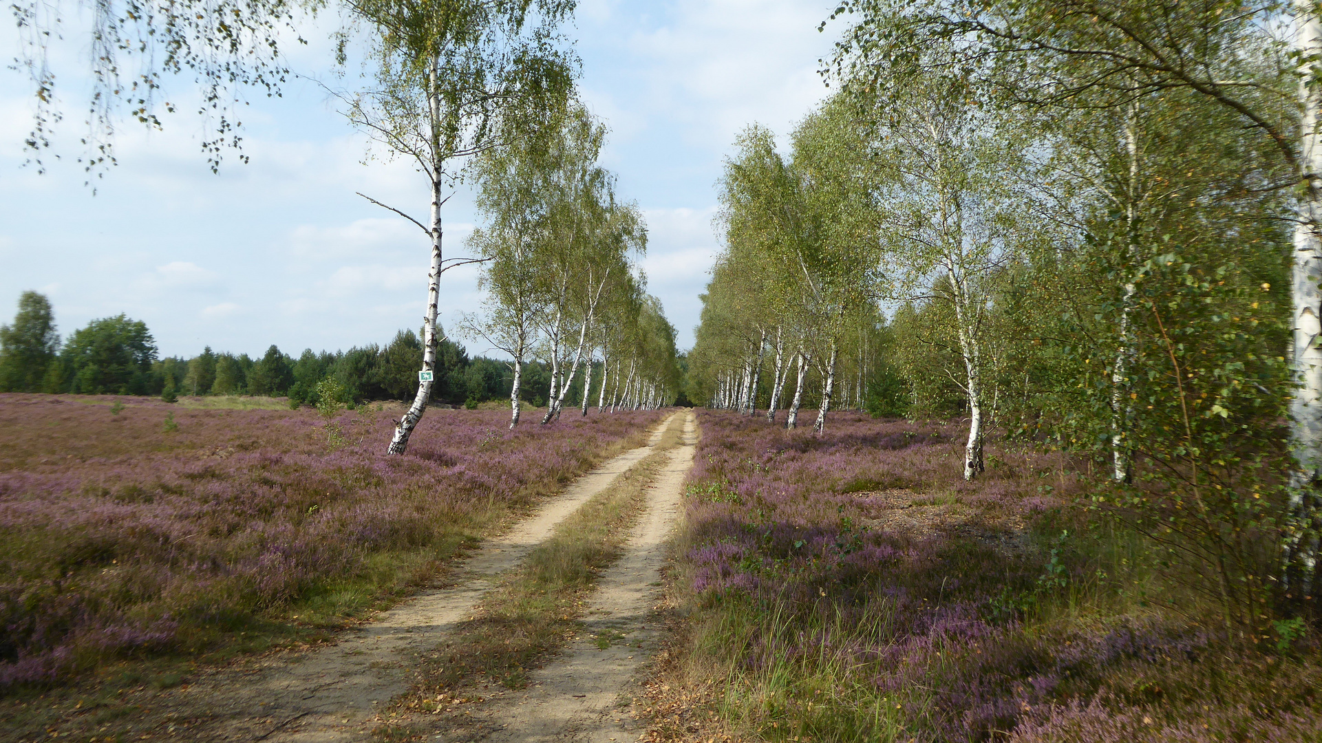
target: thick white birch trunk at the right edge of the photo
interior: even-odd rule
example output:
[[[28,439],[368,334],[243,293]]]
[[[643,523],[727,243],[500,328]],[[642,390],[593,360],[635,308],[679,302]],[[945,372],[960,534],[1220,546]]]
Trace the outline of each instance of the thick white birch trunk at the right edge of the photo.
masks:
[[[1290,337],[1292,361],[1300,386],[1290,402],[1292,439],[1298,468],[1290,477],[1292,520],[1286,529],[1286,565],[1298,561],[1301,590],[1311,590],[1317,570],[1317,512],[1318,480],[1322,479],[1322,242],[1318,219],[1318,178],[1322,173],[1322,90],[1313,83],[1318,57],[1322,56],[1322,21],[1317,7],[1309,0],[1298,3],[1298,52],[1303,62],[1300,99],[1303,110],[1301,168],[1309,178],[1309,189],[1301,198],[1300,222],[1294,227],[1294,267],[1292,271],[1292,297],[1294,323]],[[1286,578],[1289,572],[1286,572]]]

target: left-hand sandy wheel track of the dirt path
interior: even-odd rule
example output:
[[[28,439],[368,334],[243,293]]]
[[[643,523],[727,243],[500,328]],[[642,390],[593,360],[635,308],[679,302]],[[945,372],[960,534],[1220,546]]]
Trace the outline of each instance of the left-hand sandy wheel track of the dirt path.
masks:
[[[408,689],[410,666],[464,620],[500,574],[516,567],[555,526],[620,473],[652,453],[625,452],[579,477],[508,533],[483,542],[456,567],[455,583],[420,594],[375,621],[346,632],[336,645],[279,653],[200,676],[181,690],[201,724],[194,740],[348,743],[370,739],[375,710]]]

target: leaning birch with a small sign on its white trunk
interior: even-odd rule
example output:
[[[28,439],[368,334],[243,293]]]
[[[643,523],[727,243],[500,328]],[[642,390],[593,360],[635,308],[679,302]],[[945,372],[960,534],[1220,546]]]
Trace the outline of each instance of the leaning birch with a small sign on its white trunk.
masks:
[[[431,194],[426,223],[382,205],[416,225],[431,243],[420,383],[389,453],[408,447],[431,395],[440,275],[471,260],[442,253],[440,209],[456,175],[453,164],[506,144],[510,131],[535,128],[547,110],[562,104],[572,87],[574,59],[561,48],[557,29],[572,11],[574,0],[349,3],[353,25],[370,40],[375,86],[350,99],[348,116],[393,156],[412,160]],[[342,34],[341,62],[348,40]]]

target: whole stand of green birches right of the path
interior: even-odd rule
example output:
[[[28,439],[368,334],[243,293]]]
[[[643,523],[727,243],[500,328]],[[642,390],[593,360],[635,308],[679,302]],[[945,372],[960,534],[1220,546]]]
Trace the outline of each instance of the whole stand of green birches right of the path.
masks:
[[[834,95],[726,164],[690,397],[821,430],[857,358],[966,423],[968,480],[993,435],[1072,452],[1228,625],[1315,604],[1315,5],[846,11]]]

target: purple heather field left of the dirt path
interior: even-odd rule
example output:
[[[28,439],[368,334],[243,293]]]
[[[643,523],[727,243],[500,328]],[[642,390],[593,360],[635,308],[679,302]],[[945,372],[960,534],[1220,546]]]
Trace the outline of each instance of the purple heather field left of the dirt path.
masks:
[[[106,402],[0,395],[0,687],[198,649],[373,555],[446,557],[661,415],[509,431],[500,411],[434,410],[386,456],[387,412]]]

